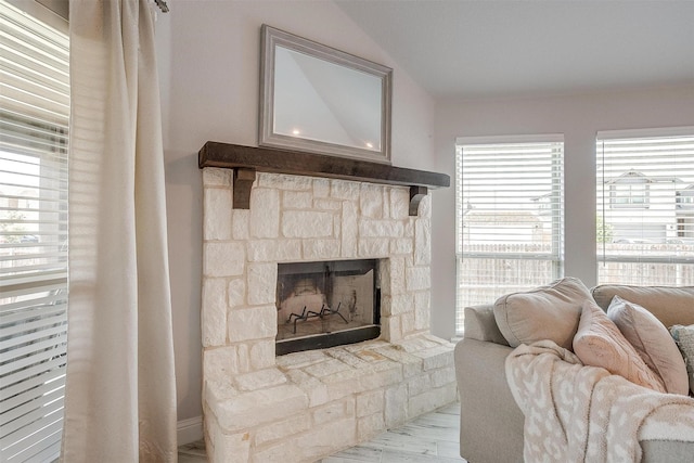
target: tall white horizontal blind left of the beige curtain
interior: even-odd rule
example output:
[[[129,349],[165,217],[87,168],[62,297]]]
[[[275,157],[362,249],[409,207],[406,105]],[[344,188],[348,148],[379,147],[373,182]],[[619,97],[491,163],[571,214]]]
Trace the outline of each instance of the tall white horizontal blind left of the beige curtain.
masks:
[[[66,363],[68,38],[4,1],[0,86],[0,454],[51,461]]]

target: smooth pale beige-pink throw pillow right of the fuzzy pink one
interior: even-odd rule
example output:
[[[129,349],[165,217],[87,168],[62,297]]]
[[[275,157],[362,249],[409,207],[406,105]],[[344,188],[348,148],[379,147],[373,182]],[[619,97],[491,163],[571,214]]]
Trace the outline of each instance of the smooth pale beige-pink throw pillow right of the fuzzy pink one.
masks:
[[[668,330],[653,313],[615,296],[607,309],[615,322],[648,368],[657,373],[670,394],[689,395],[690,382],[682,356]]]

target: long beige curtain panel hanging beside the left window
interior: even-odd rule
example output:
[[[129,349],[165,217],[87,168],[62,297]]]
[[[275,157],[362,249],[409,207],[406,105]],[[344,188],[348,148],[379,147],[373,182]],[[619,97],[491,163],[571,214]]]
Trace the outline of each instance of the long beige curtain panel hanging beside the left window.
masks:
[[[62,460],[171,462],[176,383],[154,13],[70,0]]]

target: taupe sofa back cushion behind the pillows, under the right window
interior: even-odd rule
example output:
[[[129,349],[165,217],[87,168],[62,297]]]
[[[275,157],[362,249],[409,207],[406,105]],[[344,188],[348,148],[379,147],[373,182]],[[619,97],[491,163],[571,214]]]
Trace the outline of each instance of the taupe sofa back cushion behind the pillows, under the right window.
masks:
[[[666,327],[694,324],[694,286],[630,286],[604,284],[591,291],[593,299],[607,310],[614,296],[640,305]]]

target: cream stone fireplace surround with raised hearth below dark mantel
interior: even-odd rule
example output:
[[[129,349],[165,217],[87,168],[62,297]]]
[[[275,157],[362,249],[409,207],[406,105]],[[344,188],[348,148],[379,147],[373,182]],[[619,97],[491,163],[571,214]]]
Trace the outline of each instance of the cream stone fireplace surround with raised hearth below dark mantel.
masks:
[[[429,334],[430,196],[403,187],[203,169],[203,408],[214,462],[312,462],[455,400]],[[378,339],[275,357],[279,262],[378,259]]]

